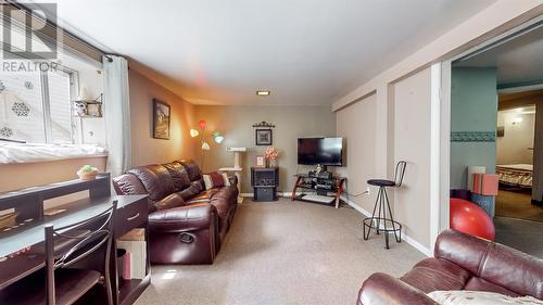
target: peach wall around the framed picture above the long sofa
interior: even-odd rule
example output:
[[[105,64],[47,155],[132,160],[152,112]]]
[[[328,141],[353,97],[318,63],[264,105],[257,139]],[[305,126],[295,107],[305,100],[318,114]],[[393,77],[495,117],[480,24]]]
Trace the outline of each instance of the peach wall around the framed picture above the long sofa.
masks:
[[[195,143],[189,130],[195,126],[194,106],[172,91],[129,69],[132,166],[194,157]],[[169,140],[152,138],[153,99],[171,106]]]

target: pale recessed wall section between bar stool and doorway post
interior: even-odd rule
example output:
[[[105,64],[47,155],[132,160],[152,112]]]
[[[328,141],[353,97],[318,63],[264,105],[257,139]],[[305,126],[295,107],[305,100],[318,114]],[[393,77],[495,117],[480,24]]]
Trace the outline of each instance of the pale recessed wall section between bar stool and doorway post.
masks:
[[[394,160],[406,161],[394,192],[395,220],[425,246],[430,241],[431,73],[426,68],[394,84]]]

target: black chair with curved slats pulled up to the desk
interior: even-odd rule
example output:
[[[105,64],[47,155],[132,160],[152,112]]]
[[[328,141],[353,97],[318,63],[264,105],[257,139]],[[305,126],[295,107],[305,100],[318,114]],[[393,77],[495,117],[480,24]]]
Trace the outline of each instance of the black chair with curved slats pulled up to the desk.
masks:
[[[4,289],[0,304],[68,305],[96,284],[102,284],[106,304],[113,305],[110,253],[115,208],[116,201],[108,211],[84,221],[56,229],[46,226],[45,251],[37,250],[40,252],[37,255],[45,257],[45,272],[30,275]],[[67,250],[66,244],[71,245]],[[90,254],[96,255],[88,257]]]

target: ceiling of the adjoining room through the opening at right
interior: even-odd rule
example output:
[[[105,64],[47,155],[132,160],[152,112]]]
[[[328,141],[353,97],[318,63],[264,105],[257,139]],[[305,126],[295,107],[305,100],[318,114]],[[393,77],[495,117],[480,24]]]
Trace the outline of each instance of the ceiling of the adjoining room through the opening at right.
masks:
[[[543,82],[543,27],[459,61],[454,66],[496,67],[500,87],[541,84]]]

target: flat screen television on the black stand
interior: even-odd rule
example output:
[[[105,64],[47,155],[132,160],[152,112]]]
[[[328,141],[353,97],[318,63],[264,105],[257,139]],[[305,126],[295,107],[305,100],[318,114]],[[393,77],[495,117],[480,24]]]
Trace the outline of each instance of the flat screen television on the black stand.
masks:
[[[298,164],[343,165],[343,138],[299,138]]]

